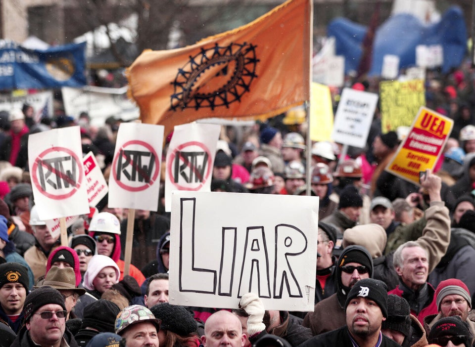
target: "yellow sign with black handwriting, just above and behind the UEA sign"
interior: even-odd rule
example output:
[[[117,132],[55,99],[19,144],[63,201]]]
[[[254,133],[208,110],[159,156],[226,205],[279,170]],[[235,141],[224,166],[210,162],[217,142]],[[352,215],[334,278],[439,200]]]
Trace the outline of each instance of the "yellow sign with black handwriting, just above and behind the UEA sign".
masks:
[[[426,104],[424,81],[383,81],[380,83],[381,130],[386,133],[397,127],[409,127],[414,115]]]

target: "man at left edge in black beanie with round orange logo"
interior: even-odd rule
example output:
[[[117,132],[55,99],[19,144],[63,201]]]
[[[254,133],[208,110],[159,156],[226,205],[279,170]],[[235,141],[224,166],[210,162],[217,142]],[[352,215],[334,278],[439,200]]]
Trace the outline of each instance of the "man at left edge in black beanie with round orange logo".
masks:
[[[15,334],[23,324],[23,304],[28,294],[29,278],[25,266],[16,262],[0,265],[0,323]]]

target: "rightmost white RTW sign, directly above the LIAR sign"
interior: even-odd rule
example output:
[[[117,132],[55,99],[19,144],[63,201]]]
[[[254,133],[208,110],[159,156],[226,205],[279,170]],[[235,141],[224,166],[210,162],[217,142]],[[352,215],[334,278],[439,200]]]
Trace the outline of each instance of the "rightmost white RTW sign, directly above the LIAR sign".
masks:
[[[220,130],[216,124],[175,126],[166,161],[165,211],[171,211],[172,190],[210,191]]]

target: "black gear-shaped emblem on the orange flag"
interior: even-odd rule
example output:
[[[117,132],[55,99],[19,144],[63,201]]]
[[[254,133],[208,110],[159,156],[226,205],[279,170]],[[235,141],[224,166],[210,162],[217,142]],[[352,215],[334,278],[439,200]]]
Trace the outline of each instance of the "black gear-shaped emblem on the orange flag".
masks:
[[[208,107],[214,110],[220,106],[229,108],[232,102],[240,101],[249,91],[252,80],[257,78],[259,59],[256,59],[255,48],[251,43],[228,46],[216,43],[211,48],[201,48],[201,52],[190,56],[188,63],[178,70],[172,82],[175,92],[170,97],[170,109]],[[210,82],[209,86],[218,87],[209,87],[207,82]]]

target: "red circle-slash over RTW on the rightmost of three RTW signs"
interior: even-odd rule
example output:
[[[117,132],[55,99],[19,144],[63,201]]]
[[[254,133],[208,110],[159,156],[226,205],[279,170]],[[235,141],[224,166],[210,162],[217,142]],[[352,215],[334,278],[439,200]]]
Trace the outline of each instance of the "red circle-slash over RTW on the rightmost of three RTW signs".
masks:
[[[167,173],[178,190],[197,191],[211,176],[211,153],[198,141],[179,145],[170,154]]]

